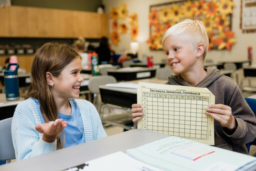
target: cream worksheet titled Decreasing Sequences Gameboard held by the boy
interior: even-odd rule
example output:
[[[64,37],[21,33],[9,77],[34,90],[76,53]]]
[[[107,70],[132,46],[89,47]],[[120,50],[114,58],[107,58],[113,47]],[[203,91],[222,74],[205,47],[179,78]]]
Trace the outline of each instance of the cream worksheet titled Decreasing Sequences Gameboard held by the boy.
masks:
[[[138,128],[214,145],[214,119],[205,110],[215,97],[207,88],[139,82],[137,103],[144,113]]]

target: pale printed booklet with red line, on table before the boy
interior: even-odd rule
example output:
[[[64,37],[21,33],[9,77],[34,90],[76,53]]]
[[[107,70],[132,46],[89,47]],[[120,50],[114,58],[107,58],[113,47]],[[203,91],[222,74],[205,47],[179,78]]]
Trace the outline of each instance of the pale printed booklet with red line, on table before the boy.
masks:
[[[253,156],[177,136],[169,136],[126,151],[128,155],[164,170],[229,171],[246,168],[246,165],[256,161]]]

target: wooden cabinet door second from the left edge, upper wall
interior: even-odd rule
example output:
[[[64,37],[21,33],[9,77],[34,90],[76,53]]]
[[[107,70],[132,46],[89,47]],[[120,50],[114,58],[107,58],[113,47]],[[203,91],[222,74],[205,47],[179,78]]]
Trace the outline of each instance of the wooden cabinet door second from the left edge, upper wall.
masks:
[[[27,8],[23,6],[11,6],[10,15],[10,36],[11,37],[28,37],[28,17]]]

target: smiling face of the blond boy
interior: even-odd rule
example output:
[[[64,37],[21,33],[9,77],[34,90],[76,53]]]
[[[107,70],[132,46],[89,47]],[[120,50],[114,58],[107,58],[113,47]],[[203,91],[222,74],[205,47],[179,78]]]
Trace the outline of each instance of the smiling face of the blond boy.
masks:
[[[185,74],[196,68],[196,48],[185,35],[169,35],[163,41],[167,64],[175,74]]]

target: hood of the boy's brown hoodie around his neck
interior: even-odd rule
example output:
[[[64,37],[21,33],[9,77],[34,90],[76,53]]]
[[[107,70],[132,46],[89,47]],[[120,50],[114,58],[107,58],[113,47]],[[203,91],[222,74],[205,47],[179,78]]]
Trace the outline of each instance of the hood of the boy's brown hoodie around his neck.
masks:
[[[195,87],[207,87],[212,82],[214,82],[216,79],[218,79],[220,76],[223,76],[224,74],[220,73],[218,69],[211,68],[211,67],[205,67],[204,70],[207,72],[206,76],[195,85]],[[185,86],[191,86],[187,81],[185,81],[180,74],[176,74],[174,76],[170,76],[168,79],[168,83],[171,85],[185,85]]]

